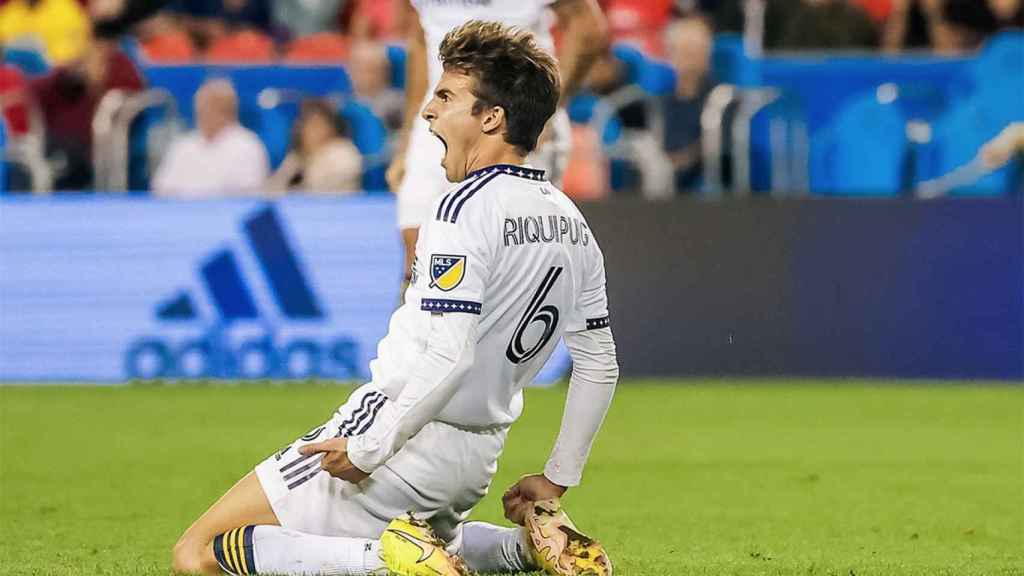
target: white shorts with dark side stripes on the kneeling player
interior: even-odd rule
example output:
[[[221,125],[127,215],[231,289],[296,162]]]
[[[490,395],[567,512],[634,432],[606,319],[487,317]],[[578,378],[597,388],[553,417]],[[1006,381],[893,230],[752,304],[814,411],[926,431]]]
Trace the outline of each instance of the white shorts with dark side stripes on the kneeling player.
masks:
[[[365,431],[386,398],[364,385],[330,420],[256,466],[256,477],[281,525],[322,536],[379,538],[407,511],[430,523],[445,541],[487,493],[498,471],[506,429],[483,433],[430,422],[359,484],[332,478],[321,455],[303,457],[298,448]]]

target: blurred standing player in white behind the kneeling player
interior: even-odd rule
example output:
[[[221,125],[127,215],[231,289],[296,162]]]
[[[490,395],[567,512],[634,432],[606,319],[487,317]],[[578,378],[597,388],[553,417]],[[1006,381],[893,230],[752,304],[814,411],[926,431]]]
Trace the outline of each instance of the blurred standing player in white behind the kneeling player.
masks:
[[[437,50],[450,30],[471,19],[488,19],[531,32],[541,47],[554,54],[551,36],[553,12],[561,41],[558,61],[562,93],[559,110],[541,136],[541,145],[530,162],[560,186],[568,161],[570,126],[564,105],[579,89],[594,60],[607,50],[607,26],[596,0],[411,0],[406,65],[406,118],[387,180],[398,195],[398,229],[406,254],[406,279],[412,271],[416,239],[427,218],[430,204],[447,189],[436,159],[443,154],[441,143],[427,132],[420,111],[428,87],[441,77]],[[403,290],[404,291],[404,290]]]

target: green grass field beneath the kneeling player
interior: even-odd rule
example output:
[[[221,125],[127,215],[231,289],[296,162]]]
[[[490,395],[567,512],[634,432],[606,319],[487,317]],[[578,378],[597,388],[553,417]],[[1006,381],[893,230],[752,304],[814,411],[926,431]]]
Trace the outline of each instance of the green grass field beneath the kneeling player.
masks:
[[[622,384],[566,496],[617,574],[1024,574],[1024,388],[679,384]],[[0,386],[0,574],[168,574],[188,523],[348,389]],[[527,394],[476,518],[541,469],[564,392]]]

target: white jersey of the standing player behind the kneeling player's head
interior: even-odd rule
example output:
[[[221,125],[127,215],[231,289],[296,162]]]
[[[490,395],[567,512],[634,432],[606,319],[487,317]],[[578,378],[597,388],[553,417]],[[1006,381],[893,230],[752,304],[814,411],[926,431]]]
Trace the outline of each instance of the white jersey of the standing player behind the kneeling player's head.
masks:
[[[428,86],[436,86],[441,79],[443,70],[437,54],[444,35],[472,19],[497,20],[528,30],[539,46],[554,54],[553,22],[548,12],[552,3],[554,0],[413,0],[427,41]]]

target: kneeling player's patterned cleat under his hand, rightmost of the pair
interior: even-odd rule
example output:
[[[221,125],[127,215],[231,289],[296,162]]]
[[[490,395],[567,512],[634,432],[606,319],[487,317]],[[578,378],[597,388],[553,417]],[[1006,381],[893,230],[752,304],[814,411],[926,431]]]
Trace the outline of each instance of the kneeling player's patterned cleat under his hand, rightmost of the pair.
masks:
[[[553,576],[611,576],[611,561],[597,540],[582,534],[558,499],[534,502],[526,513],[530,553]]]

